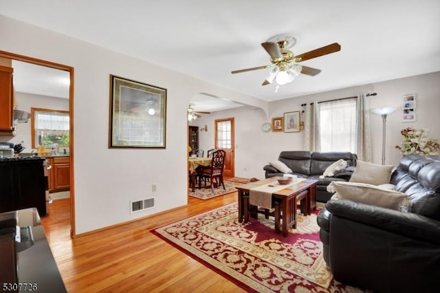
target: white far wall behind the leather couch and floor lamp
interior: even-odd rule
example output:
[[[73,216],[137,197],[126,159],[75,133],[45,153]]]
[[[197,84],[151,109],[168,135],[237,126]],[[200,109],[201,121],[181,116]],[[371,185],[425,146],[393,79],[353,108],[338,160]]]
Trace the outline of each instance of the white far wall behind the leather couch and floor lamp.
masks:
[[[397,107],[397,111],[388,116],[386,121],[386,164],[398,164],[400,153],[395,149],[401,142],[401,129],[406,127],[429,128],[430,136],[440,139],[440,72],[423,74],[408,78],[399,78],[382,83],[350,87],[336,91],[289,98],[270,102],[269,117],[261,110],[252,107],[241,107],[202,116],[192,124],[199,127],[208,125],[208,133],[200,132],[202,149],[210,149],[214,145],[214,119],[235,118],[235,175],[237,177],[264,178],[263,166],[270,160],[276,160],[281,151],[303,149],[304,133],[270,132],[263,133],[261,124],[272,122],[273,117],[281,117],[284,112],[302,111],[301,104],[336,98],[346,98],[377,93],[371,97],[370,107]],[[295,83],[295,82],[294,82]],[[294,86],[294,84],[292,84]],[[406,94],[417,94],[416,122],[401,122],[401,102]],[[373,162],[382,163],[382,118],[371,113],[371,140]]]

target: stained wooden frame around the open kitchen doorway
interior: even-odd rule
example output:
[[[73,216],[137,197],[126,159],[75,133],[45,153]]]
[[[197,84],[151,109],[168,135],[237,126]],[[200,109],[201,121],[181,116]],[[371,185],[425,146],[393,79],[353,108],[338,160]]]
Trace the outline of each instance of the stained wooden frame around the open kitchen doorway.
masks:
[[[19,54],[14,54],[14,53],[10,53],[10,52],[4,52],[4,51],[0,51],[0,57],[2,58],[8,58],[12,61],[21,61],[24,63],[29,63],[29,64],[33,64],[33,65],[41,65],[43,67],[50,67],[52,69],[59,69],[63,72],[68,72],[69,75],[69,94],[68,94],[68,98],[69,98],[69,157],[70,157],[70,173],[69,173],[69,177],[70,177],[70,235],[71,237],[74,237],[74,235],[76,235],[75,232],[75,221],[74,221],[74,89],[73,89],[73,85],[74,85],[74,68],[67,66],[67,65],[62,65],[62,64],[58,64],[58,63],[53,63],[51,61],[44,61],[41,59],[37,59],[37,58],[32,58],[32,57],[28,57],[28,56],[22,56]]]

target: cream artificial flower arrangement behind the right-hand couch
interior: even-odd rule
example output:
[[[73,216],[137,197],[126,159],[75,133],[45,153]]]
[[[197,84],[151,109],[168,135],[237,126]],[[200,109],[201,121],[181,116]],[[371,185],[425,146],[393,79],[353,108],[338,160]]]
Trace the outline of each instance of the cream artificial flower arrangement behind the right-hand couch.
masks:
[[[439,155],[440,144],[437,140],[428,137],[428,129],[413,129],[408,127],[400,131],[404,136],[399,146],[402,155],[415,153],[418,155]]]

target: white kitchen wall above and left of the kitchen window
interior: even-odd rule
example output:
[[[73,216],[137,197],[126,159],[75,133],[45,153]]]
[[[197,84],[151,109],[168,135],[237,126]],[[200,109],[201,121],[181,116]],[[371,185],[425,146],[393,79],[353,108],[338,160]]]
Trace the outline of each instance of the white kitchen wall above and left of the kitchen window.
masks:
[[[27,94],[16,92],[17,98],[17,109],[21,111],[27,111],[30,113],[30,108],[43,108],[52,110],[62,110],[69,111],[69,100],[65,98],[54,98],[49,96],[41,96],[34,94]],[[23,146],[26,149],[23,153],[30,153],[32,151],[32,134],[31,134],[31,123],[19,123],[17,124],[17,135],[15,136],[0,136],[0,142],[12,142],[14,144],[19,144],[23,142]],[[36,149],[34,149],[36,153]]]

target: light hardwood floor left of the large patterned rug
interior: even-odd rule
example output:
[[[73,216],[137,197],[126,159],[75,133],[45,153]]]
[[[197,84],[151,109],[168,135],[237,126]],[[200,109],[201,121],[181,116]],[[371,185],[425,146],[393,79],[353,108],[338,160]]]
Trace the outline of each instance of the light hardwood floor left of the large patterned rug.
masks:
[[[150,230],[236,202],[237,193],[71,239],[70,199],[50,205],[42,218],[68,292],[245,292],[173,248]],[[93,219],[90,219],[93,221]]]

